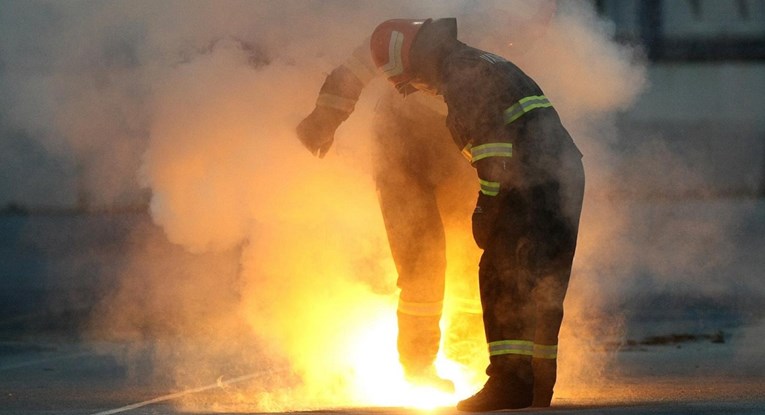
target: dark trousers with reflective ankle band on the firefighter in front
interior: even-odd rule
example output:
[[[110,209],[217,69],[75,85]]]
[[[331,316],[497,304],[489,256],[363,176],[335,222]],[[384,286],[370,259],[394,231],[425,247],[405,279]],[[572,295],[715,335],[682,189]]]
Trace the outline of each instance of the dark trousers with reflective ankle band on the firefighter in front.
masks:
[[[496,231],[479,268],[487,374],[533,373],[533,406],[549,406],[552,399],[584,194],[579,155],[561,166],[556,180],[502,196]]]

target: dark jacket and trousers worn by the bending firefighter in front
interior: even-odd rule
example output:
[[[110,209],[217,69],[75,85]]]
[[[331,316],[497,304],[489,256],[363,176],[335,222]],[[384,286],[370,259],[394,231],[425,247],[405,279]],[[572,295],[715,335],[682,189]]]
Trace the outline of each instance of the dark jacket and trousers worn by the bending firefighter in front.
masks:
[[[552,362],[576,247],[582,154],[540,87],[513,63],[456,40],[432,50],[447,125],[480,182],[473,233],[484,248],[487,373],[502,372],[504,356]],[[535,287],[546,285],[555,289],[538,297]]]

